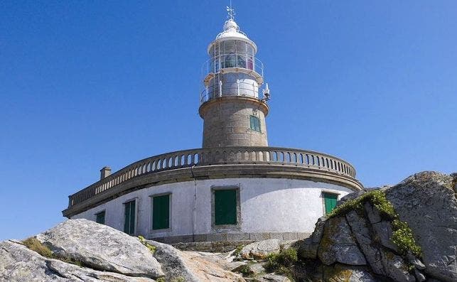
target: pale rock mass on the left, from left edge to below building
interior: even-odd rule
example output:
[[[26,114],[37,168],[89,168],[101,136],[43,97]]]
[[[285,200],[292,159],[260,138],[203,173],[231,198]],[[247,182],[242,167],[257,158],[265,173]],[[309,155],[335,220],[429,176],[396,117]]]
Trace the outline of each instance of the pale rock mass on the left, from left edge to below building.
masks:
[[[30,243],[31,242],[31,243]],[[151,249],[155,249],[154,252]],[[195,251],[131,237],[86,219],[69,219],[24,242],[0,243],[0,282],[244,281]]]

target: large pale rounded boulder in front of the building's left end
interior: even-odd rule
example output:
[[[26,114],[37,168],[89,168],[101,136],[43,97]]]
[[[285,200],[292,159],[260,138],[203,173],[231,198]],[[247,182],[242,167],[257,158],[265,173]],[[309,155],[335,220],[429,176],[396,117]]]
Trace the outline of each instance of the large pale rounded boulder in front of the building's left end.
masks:
[[[36,238],[56,255],[100,271],[128,276],[163,276],[151,251],[124,232],[87,219],[68,219]]]

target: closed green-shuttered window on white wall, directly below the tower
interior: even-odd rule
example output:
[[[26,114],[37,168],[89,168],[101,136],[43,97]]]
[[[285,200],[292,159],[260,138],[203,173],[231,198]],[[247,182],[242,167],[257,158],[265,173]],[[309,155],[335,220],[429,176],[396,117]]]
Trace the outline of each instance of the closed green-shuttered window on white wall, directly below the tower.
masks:
[[[214,191],[215,224],[237,224],[237,190]]]

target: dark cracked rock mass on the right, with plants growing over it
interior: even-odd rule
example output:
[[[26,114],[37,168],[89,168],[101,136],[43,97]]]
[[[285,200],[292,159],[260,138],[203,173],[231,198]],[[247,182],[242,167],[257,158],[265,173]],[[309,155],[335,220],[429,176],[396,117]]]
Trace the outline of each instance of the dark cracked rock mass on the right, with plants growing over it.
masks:
[[[457,281],[456,176],[417,173],[377,192],[344,197],[297,244],[301,259],[316,265],[308,277]]]

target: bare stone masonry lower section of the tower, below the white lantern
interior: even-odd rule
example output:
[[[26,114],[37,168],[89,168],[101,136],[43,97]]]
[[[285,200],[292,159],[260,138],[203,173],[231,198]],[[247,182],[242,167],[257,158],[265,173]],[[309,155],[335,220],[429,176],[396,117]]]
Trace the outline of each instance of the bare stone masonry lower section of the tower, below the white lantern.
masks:
[[[203,118],[203,148],[268,146],[268,106],[259,99],[219,97],[202,104],[199,112]],[[250,116],[259,118],[260,132],[251,129]]]

